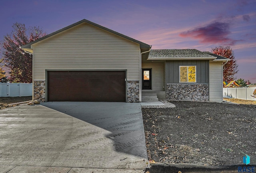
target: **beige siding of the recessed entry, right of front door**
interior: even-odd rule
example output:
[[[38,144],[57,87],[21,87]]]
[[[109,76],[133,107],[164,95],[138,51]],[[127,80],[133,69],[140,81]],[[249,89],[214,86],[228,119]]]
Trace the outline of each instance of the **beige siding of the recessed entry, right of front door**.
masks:
[[[152,90],[164,91],[164,63],[143,63],[142,69],[152,69]]]

